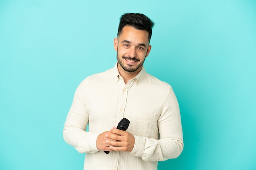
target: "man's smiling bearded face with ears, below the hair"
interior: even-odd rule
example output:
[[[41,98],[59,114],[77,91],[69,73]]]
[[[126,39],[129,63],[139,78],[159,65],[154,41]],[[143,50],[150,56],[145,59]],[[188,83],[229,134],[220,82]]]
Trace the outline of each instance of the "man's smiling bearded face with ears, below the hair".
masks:
[[[124,26],[122,33],[114,39],[114,47],[117,51],[119,72],[138,74],[151,50],[148,32]]]

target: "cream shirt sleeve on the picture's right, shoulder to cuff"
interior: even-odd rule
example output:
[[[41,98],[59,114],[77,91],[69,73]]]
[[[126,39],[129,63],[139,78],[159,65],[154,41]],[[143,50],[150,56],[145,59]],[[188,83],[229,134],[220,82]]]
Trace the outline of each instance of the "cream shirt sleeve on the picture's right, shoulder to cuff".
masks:
[[[157,122],[159,139],[136,136],[131,155],[144,161],[164,161],[177,158],[183,150],[182,124],[177,98],[171,88]]]

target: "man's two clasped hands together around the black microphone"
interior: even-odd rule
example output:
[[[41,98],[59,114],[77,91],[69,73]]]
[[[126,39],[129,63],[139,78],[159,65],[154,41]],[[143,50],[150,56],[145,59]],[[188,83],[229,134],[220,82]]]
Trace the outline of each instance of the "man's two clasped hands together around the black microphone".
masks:
[[[97,137],[97,149],[102,151],[131,152],[134,143],[135,138],[131,133],[119,130],[116,127],[101,133]]]

